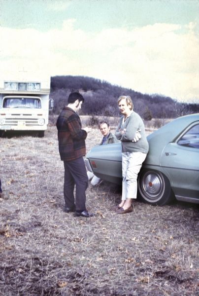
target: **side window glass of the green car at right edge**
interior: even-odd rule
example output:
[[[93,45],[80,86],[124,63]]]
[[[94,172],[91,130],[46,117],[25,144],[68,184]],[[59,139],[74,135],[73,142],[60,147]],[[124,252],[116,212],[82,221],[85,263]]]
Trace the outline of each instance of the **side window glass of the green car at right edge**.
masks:
[[[199,124],[188,130],[178,141],[178,145],[199,149]]]

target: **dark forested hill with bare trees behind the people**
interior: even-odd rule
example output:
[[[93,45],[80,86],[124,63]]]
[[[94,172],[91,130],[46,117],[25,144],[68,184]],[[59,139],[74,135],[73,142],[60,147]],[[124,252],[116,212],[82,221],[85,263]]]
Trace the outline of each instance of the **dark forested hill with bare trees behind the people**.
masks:
[[[66,105],[71,91],[79,91],[84,96],[82,114],[85,115],[118,116],[117,99],[121,95],[130,95],[134,111],[146,120],[152,117],[175,118],[199,112],[199,104],[182,104],[158,94],[142,94],[92,77],[54,76],[51,77],[50,97],[54,99],[55,113],[59,113]]]

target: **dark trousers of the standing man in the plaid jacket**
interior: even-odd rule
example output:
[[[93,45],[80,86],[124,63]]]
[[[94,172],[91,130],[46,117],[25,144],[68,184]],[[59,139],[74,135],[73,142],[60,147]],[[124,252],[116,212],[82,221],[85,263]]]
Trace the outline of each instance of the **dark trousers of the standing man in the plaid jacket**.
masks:
[[[88,177],[83,157],[64,161],[64,198],[66,207],[75,207],[76,211],[86,210],[86,189]],[[74,186],[76,187],[74,198]]]

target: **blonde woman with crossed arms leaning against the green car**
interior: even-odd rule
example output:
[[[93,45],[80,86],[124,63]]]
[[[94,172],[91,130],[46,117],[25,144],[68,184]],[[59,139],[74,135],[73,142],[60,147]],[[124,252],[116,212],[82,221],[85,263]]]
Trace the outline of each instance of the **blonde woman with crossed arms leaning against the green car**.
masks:
[[[118,107],[122,116],[115,136],[122,142],[122,200],[111,209],[117,214],[125,214],[133,211],[132,199],[137,197],[137,175],[146,158],[149,145],[143,120],[133,111],[131,97],[120,96]]]

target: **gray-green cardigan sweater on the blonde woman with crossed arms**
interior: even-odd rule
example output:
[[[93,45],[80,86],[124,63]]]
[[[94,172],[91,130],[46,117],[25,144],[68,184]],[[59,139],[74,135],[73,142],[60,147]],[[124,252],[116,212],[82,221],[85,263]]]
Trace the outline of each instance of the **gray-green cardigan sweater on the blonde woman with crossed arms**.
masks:
[[[133,111],[131,115],[126,118],[124,123],[123,118],[124,116],[120,118],[118,127],[115,131],[116,138],[122,142],[122,151],[147,153],[149,150],[149,144],[146,139],[144,123],[141,117]],[[126,128],[126,133],[122,135],[120,129],[124,128]],[[132,142],[137,130],[139,130],[141,134],[141,139],[137,142]]]

